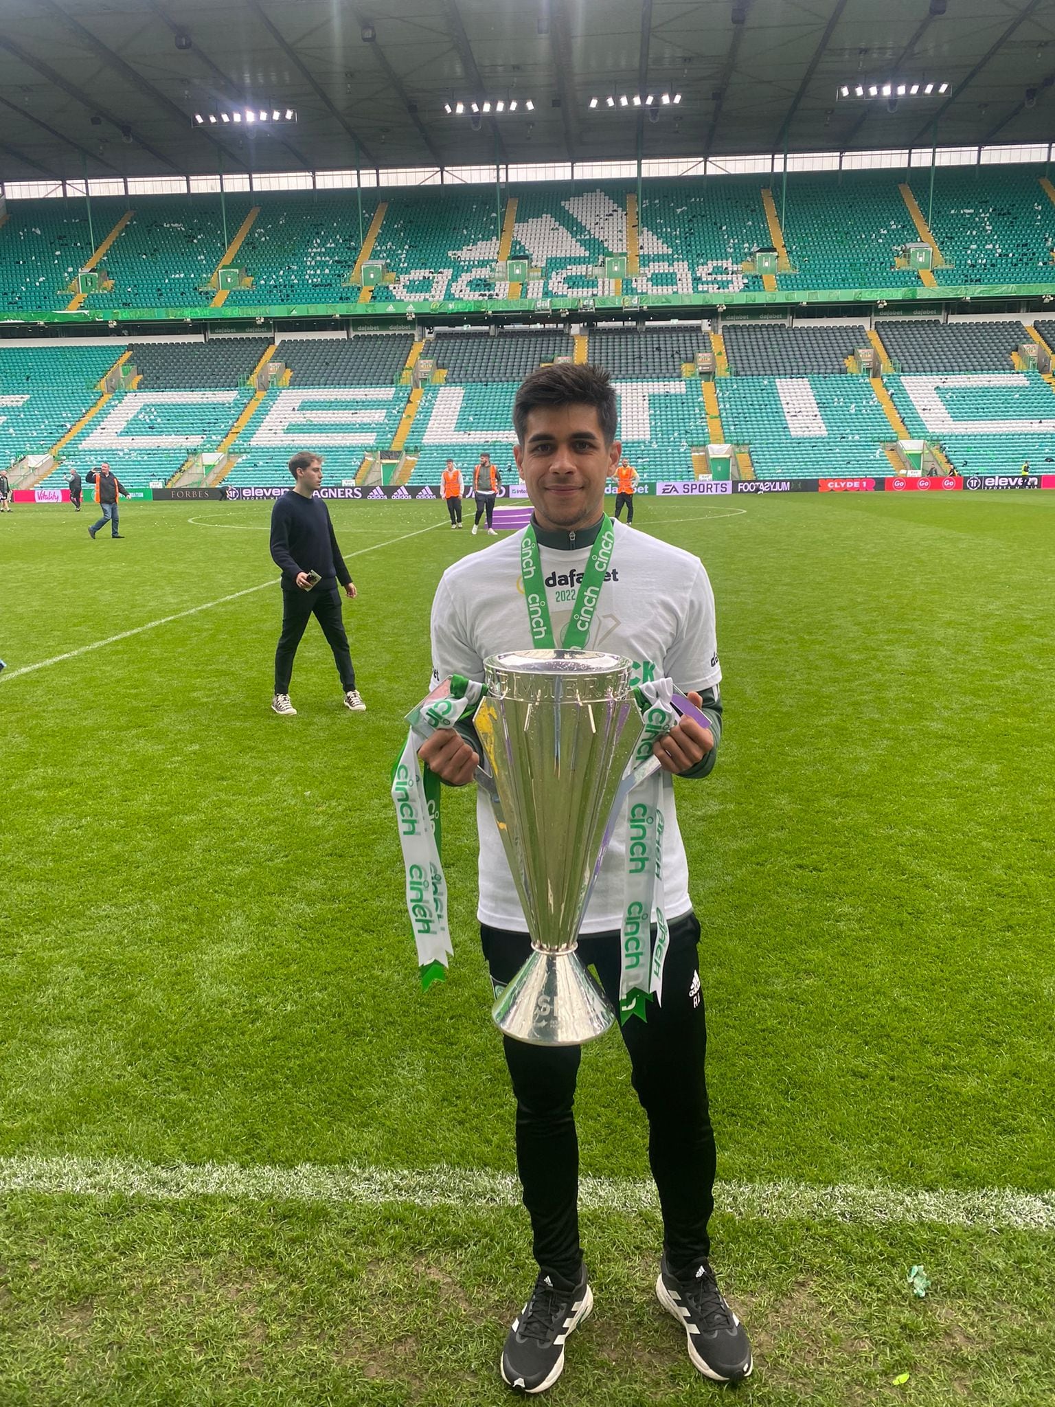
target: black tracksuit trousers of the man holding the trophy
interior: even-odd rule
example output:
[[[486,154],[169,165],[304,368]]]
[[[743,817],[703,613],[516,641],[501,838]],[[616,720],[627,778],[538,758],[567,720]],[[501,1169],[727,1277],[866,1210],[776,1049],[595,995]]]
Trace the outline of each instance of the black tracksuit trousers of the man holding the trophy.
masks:
[[[487,924],[480,934],[491,978],[504,986],[528,960],[530,938]],[[715,1209],[715,1134],[703,1072],[708,1031],[695,913],[672,920],[670,934],[663,1005],[650,1002],[648,1020],[632,1017],[622,1036],[632,1083],[648,1117],[648,1162],[660,1193],[668,1263],[675,1275],[691,1276],[710,1251],[708,1221]],[[619,934],[580,937],[578,955],[595,968],[618,1007]],[[582,1265],[573,1113],[580,1055],[578,1045],[528,1045],[505,1037],[516,1095],[516,1166],[532,1218],[535,1258],[542,1271],[570,1280],[578,1279]]]

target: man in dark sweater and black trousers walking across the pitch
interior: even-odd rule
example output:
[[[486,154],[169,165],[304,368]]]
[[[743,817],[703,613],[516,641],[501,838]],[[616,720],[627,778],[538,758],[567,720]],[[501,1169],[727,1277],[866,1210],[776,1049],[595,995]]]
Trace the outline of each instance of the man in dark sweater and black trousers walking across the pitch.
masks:
[[[293,661],[314,615],[333,651],[333,663],[345,691],[345,708],[353,713],[364,713],[366,704],[356,688],[352,651],[340,616],[338,581],[350,599],[354,599],[357,591],[340,556],[326,504],[315,497],[322,483],[322,459],[301,450],[290,460],[290,473],[294,487],[276,499],[271,509],[271,557],[283,570],[283,633],[274,651],[271,708],[287,718],[297,713],[290,704]]]

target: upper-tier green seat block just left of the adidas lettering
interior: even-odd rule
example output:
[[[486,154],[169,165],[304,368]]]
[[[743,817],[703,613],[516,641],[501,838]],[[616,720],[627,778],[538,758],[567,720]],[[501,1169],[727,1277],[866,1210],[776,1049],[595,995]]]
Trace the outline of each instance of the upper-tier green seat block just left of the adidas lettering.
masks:
[[[360,248],[356,198],[347,191],[284,191],[255,198],[260,214],[235,259],[253,281],[249,288],[234,288],[228,305],[354,303],[359,288],[345,280]],[[371,191],[363,200],[364,229],[376,208]]]

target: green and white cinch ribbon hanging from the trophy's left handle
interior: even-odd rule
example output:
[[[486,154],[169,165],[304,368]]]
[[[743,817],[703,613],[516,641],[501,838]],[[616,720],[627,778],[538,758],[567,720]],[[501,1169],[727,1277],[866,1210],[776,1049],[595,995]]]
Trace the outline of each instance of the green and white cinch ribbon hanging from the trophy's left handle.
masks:
[[[440,779],[418,758],[418,749],[437,727],[453,727],[471,718],[482,684],[459,674],[445,680],[407,715],[407,743],[392,768],[392,802],[407,881],[407,912],[418,948],[422,988],[442,981],[452,957],[447,926],[447,881],[440,846]]]

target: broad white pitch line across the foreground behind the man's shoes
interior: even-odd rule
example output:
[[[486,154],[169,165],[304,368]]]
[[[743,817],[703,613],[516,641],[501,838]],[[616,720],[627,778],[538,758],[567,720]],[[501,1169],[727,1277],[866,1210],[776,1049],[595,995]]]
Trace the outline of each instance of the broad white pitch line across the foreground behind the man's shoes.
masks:
[[[404,1168],[236,1166],[231,1164],[149,1164],[121,1158],[0,1158],[0,1190],[52,1196],[146,1197],[184,1202],[228,1197],[249,1202],[304,1202],[418,1207],[519,1207],[520,1185],[511,1173],[445,1165]],[[591,1210],[657,1211],[656,1188],[632,1178],[582,1178],[580,1204]],[[1011,1188],[975,1192],[917,1188],[861,1188],[806,1182],[722,1182],[719,1213],[744,1220],[844,1221],[969,1227],[983,1231],[1055,1231],[1055,1192]]]

